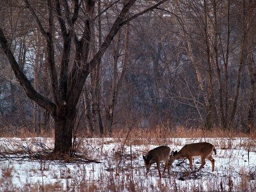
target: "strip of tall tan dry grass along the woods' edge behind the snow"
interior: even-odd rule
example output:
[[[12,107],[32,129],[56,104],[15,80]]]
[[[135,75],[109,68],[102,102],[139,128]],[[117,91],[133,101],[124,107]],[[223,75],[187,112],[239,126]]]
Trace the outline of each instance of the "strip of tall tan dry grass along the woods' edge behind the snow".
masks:
[[[35,132],[29,132],[28,127],[1,127],[0,129],[0,137],[8,138],[8,137],[17,137],[17,138],[33,138],[36,136],[41,136],[45,138],[54,138],[54,130],[42,129],[39,134]],[[202,127],[164,127],[163,125],[157,125],[156,127],[149,128],[140,128],[140,127],[132,127],[132,129],[124,127],[113,129],[113,134],[109,136],[106,134],[104,137],[111,138],[125,138],[129,136],[129,139],[136,140],[138,138],[146,138],[146,139],[159,139],[163,138],[256,138],[256,129],[251,129],[250,133],[244,133],[238,130],[225,130],[220,127],[214,127],[211,130],[205,130]],[[77,136],[88,136],[86,130],[77,131]],[[100,135],[93,135],[93,138],[99,138]]]

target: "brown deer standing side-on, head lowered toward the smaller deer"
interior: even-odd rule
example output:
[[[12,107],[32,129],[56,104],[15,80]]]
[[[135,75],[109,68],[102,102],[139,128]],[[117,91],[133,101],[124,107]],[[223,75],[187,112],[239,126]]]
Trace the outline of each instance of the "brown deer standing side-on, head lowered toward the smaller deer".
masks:
[[[172,164],[175,159],[188,158],[189,165],[192,170],[193,157],[200,156],[202,164],[201,164],[199,170],[201,170],[204,167],[205,159],[209,159],[212,163],[212,172],[214,172],[214,161],[215,160],[212,158],[212,151],[214,151],[214,153],[216,155],[216,150],[211,143],[204,142],[204,143],[192,143],[192,144],[184,145],[184,147],[182,147],[179,152],[177,152],[177,150],[175,152],[172,151],[172,153],[170,155],[169,163]]]

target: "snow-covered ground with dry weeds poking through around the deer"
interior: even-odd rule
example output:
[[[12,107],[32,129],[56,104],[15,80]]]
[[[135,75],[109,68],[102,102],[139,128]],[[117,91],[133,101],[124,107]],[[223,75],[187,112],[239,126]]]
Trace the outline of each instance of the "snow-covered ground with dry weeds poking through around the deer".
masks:
[[[20,148],[31,152],[45,146],[53,148],[52,141],[0,138],[0,191],[256,191],[256,142],[250,138],[131,139],[125,143],[116,138],[81,140],[80,152],[100,163],[39,161],[27,154],[5,154]],[[195,172],[200,159],[194,159],[192,172],[186,160],[175,161],[170,175],[165,172],[161,180],[156,164],[145,176],[142,155],[148,150],[159,145],[179,150],[198,141],[215,146],[214,172],[208,160],[202,171]]]

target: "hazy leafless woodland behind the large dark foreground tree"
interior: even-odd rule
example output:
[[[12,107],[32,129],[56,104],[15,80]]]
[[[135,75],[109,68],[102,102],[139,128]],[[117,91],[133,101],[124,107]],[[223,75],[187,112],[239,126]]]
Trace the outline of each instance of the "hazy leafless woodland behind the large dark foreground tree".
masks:
[[[24,2],[1,0],[0,26],[36,92],[52,99],[45,38]],[[75,1],[67,2],[72,6]],[[89,1],[77,2],[86,10]],[[156,2],[136,1],[129,14]],[[92,55],[124,1],[94,3]],[[46,1],[31,4],[44,26]],[[57,13],[52,14],[54,61],[60,74],[63,43]],[[173,0],[132,19],[86,78],[74,130],[88,136],[124,127],[252,131],[256,126],[255,14],[254,0]],[[77,16],[78,37],[84,15]],[[70,55],[75,60],[72,51]],[[1,133],[15,134],[22,128],[40,134],[54,129],[50,113],[26,96],[3,49],[0,68]]]

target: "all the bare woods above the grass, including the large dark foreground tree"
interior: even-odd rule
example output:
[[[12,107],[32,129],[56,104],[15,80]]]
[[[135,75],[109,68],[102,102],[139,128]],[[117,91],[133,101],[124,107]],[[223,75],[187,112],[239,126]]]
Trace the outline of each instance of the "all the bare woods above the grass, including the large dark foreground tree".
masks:
[[[2,129],[54,129],[56,154],[72,152],[79,130],[255,129],[256,1],[2,0],[0,7]]]

